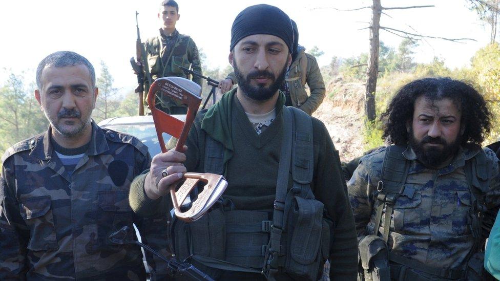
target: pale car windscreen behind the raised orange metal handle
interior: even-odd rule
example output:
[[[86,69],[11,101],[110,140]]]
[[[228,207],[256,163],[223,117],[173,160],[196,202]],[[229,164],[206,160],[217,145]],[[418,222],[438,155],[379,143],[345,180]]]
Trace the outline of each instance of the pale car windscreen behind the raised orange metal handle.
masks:
[[[151,155],[151,157],[161,152],[154,124],[117,124],[104,127],[138,138],[142,141],[142,143],[148,146],[149,154]],[[169,134],[163,133],[163,140],[165,141],[165,143],[167,143],[171,137],[172,136],[170,136]]]

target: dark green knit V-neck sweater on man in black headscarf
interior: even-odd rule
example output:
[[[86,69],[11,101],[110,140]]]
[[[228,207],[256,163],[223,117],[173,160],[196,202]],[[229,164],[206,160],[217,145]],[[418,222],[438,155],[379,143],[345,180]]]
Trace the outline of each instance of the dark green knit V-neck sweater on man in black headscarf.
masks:
[[[225,95],[236,97],[235,91]],[[227,101],[232,103],[230,106],[226,104],[226,107],[231,109],[227,118],[231,119],[228,122],[228,135],[232,138],[232,153],[229,154],[231,157],[225,167],[224,176],[228,187],[224,197],[231,199],[237,209],[272,209],[282,139],[282,107],[277,107],[276,119],[261,135],[257,135],[238,99],[232,97],[227,98]],[[184,165],[188,171],[204,172],[206,132],[201,125],[204,116],[204,111],[199,113],[186,142],[188,151]],[[314,176],[311,189],[316,199],[323,202],[328,216],[334,222],[334,228],[331,229],[330,277],[335,280],[355,280],[358,269],[358,244],[347,187],[337,150],[324,124],[315,118],[313,139]],[[168,213],[172,208],[170,197],[150,200],[144,194],[144,178],[145,176],[137,177],[131,186],[130,204],[134,211],[145,216],[157,212]],[[291,185],[291,175],[289,182]]]

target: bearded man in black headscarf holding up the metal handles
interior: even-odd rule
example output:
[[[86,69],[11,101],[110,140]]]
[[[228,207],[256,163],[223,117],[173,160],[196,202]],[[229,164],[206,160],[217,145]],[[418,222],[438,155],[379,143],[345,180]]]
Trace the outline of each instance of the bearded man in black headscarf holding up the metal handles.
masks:
[[[231,34],[238,88],[198,114],[184,153],[153,158],[132,184],[132,208],[171,213],[165,195],[184,172],[220,172],[228,182],[221,204],[190,224],[171,218],[175,258],[223,280],[317,280],[328,258],[332,279],[356,279],[357,239],[338,153],[324,124],[285,107],[279,91],[291,62],[290,19],[277,7],[251,6]]]

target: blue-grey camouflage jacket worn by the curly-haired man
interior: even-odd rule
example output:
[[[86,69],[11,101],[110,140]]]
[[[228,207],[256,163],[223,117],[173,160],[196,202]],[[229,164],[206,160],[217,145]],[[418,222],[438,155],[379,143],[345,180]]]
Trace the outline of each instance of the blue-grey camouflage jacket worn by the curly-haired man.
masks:
[[[483,219],[487,237],[500,206],[499,161],[488,148],[489,190]],[[347,183],[358,236],[373,233],[376,216],[377,184],[381,177],[386,147],[361,158],[360,165]],[[462,269],[474,244],[469,212],[471,190],[465,178],[466,161],[480,150],[461,148],[452,163],[431,169],[416,160],[411,148],[403,156],[410,161],[405,187],[415,192],[411,198],[400,196],[393,205],[388,245],[394,254],[420,263],[446,269]],[[475,187],[473,187],[475,188]],[[379,231],[384,232],[384,217]]]

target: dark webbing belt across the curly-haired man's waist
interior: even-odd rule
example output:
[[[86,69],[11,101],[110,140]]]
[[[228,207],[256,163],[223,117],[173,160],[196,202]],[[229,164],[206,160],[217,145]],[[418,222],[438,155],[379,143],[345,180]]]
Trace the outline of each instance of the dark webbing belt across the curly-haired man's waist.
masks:
[[[436,268],[436,267],[431,267],[428,265],[425,265],[423,263],[417,262],[415,260],[410,260],[409,258],[396,255],[393,253],[389,253],[389,260],[393,263],[397,263],[399,265],[402,265],[403,267],[407,267],[412,270],[418,270],[427,274],[432,275],[433,277],[439,277],[439,278],[444,278],[444,279],[460,279],[465,276],[465,271],[463,270],[457,270],[457,269],[445,269],[445,268]],[[391,267],[391,275],[395,274],[395,271],[398,271],[398,265],[390,265]],[[394,269],[392,269],[394,267]],[[398,273],[399,276],[391,276],[392,278],[396,280],[412,280],[412,279],[399,279],[402,276],[402,272]],[[399,278],[397,278],[399,277]]]

